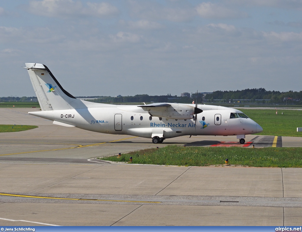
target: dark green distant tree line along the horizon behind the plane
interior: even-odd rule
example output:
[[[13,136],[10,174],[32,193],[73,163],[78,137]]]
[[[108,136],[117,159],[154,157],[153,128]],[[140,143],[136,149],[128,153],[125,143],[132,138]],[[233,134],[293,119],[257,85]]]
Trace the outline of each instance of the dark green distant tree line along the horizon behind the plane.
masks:
[[[78,97],[85,98],[85,97]],[[91,102],[104,102],[104,103],[127,103],[127,102],[178,102],[178,103],[191,103],[193,99],[196,100],[196,93],[193,93],[191,98],[171,96],[171,94],[161,96],[149,96],[147,94],[137,94],[135,96],[88,96]],[[37,97],[0,97],[1,102],[31,102],[31,99],[37,101]],[[259,89],[244,89],[236,91],[214,91],[203,95],[198,93],[197,102],[201,103],[237,103],[238,100],[249,103],[284,103],[291,105],[302,104],[302,91],[300,92],[280,92],[280,91],[267,91],[264,88]],[[261,100],[261,101],[259,101]],[[265,101],[270,100],[270,101]]]

